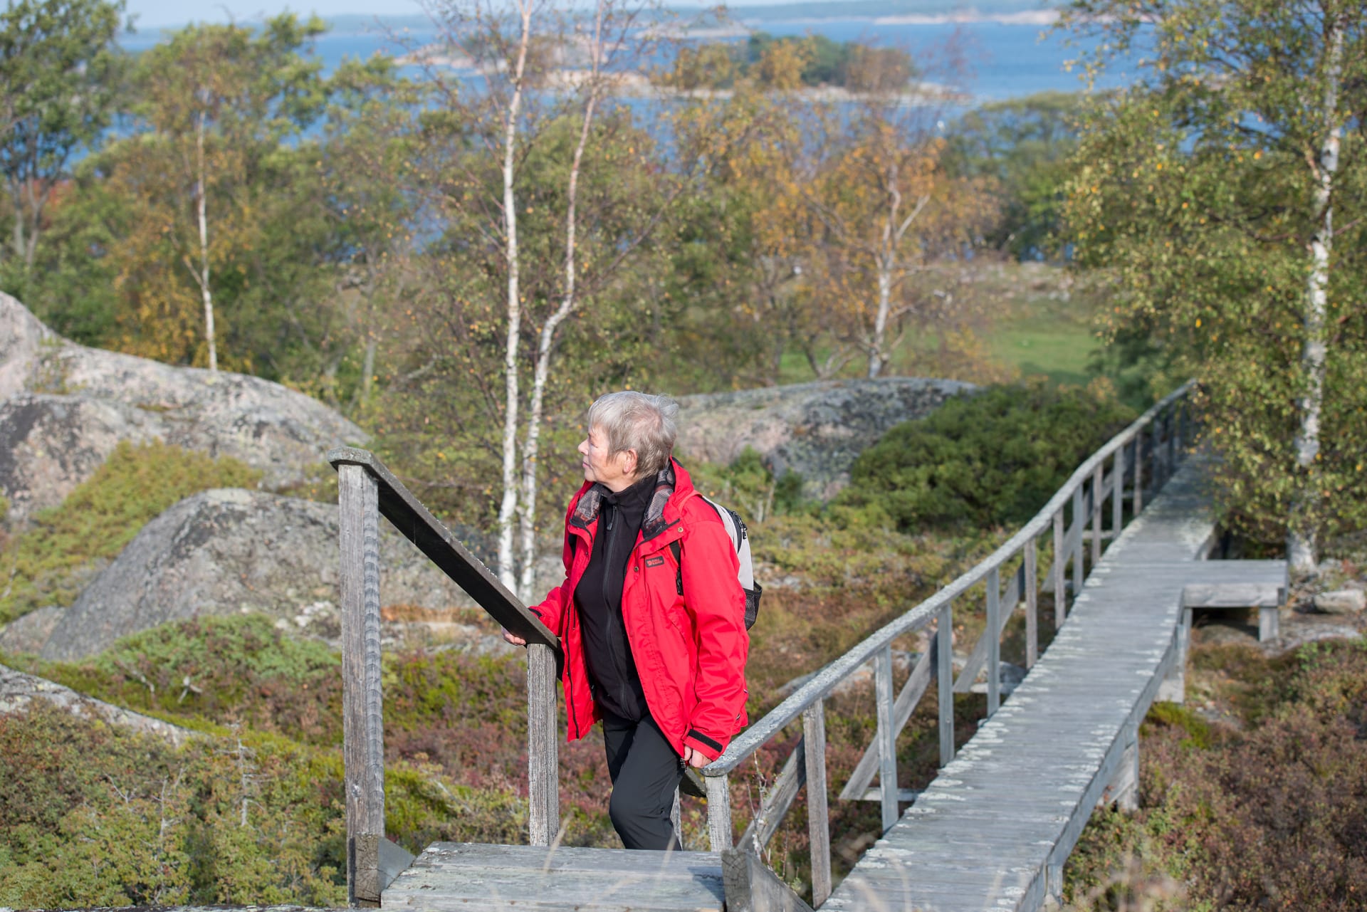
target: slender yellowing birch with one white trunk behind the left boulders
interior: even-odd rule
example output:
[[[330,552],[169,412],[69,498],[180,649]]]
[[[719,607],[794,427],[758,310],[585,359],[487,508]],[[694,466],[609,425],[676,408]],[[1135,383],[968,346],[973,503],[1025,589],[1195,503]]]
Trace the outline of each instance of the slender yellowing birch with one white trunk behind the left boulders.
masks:
[[[321,111],[321,63],[301,55],[320,31],[320,19],[288,14],[260,31],[189,26],[138,60],[141,129],[111,149],[109,170],[135,213],[113,250],[130,305],[126,349],[219,366],[215,298],[236,304],[253,254],[271,254],[262,226],[301,176],[282,144]],[[269,349],[232,360],[250,369],[261,354]]]

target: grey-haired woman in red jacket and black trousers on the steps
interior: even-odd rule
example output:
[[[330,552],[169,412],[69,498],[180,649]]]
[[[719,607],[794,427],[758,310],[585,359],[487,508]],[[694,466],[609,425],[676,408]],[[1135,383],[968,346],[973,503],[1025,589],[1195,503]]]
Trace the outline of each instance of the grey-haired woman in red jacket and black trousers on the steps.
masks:
[[[565,582],[532,608],[565,649],[569,738],[603,721],[608,814],[629,849],[679,848],[670,811],[685,766],[711,763],[746,725],[735,548],[671,455],[677,414],[633,391],[589,407]]]

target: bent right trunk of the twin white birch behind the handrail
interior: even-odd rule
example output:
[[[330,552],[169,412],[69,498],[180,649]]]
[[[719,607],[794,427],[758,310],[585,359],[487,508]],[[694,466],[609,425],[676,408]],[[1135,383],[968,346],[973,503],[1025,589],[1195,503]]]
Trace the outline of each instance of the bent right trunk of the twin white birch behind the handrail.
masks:
[[[518,580],[518,593],[526,602],[533,598],[536,585],[536,496],[537,496],[537,462],[541,455],[541,417],[545,403],[545,384],[551,377],[551,353],[555,345],[555,334],[565,319],[570,316],[578,304],[576,297],[576,237],[578,217],[580,167],[584,161],[584,149],[588,148],[589,135],[593,129],[593,113],[599,101],[599,66],[601,63],[601,34],[603,34],[603,0],[599,0],[597,14],[593,26],[593,68],[589,75],[589,96],[584,105],[584,124],[580,129],[580,141],[574,146],[574,159],[570,163],[569,186],[566,187],[566,215],[565,215],[565,293],[555,313],[541,327],[541,336],[536,349],[536,369],[532,376],[532,402],[526,420],[526,436],[522,444],[522,507],[519,510],[519,532],[522,539],[522,573]]]

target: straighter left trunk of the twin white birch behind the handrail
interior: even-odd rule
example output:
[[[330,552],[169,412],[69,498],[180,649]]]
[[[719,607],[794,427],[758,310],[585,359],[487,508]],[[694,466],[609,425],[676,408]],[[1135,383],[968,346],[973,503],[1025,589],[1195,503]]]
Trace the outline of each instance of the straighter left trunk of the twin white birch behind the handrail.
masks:
[[[517,66],[513,70],[513,96],[503,122],[503,231],[504,256],[509,269],[507,313],[509,336],[503,353],[503,500],[499,505],[499,580],[509,589],[517,585],[514,567],[513,520],[518,506],[517,423],[518,423],[518,342],[522,332],[522,301],[518,287],[517,196],[513,191],[513,164],[517,142],[517,119],[522,107],[522,79],[526,72],[526,51],[532,40],[532,0],[521,0],[522,33],[518,38]]]

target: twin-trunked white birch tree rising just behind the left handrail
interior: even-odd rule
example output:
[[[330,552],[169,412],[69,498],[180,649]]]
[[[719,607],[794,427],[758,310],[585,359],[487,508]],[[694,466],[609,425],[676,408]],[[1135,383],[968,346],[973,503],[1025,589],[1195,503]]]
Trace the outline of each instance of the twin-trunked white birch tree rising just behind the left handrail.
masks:
[[[442,86],[461,135],[474,144],[451,155],[447,174],[433,178],[448,212],[447,231],[461,226],[473,232],[500,273],[502,388],[487,410],[500,427],[496,561],[500,580],[522,598],[530,598],[533,587],[541,440],[563,327],[659,224],[660,209],[637,201],[630,224],[608,219],[617,234],[585,257],[584,227],[593,223],[601,231],[604,219],[584,211],[584,170],[591,161],[601,165],[611,134],[629,124],[621,112],[611,124],[603,123],[603,105],[626,59],[640,57],[651,41],[641,11],[619,0],[599,0],[592,8],[558,8],[541,0],[440,4],[429,14],[442,41],[413,55]],[[478,74],[484,90],[470,92],[452,78],[444,70],[452,62]],[[567,131],[574,138],[563,144]],[[647,142],[642,137],[641,153]],[[638,152],[633,146],[629,155]],[[532,183],[526,175],[532,161],[554,171],[558,186],[547,186],[544,171]],[[633,208],[619,197],[610,205],[619,213]],[[529,217],[537,224],[533,250],[526,249]],[[547,217],[558,226],[554,239]],[[457,268],[470,253],[468,241],[458,246],[458,263],[451,264]],[[547,273],[547,254],[555,261],[554,276]],[[455,276],[469,294],[452,302],[462,314],[446,319],[469,321],[472,298],[493,291],[491,275]]]

